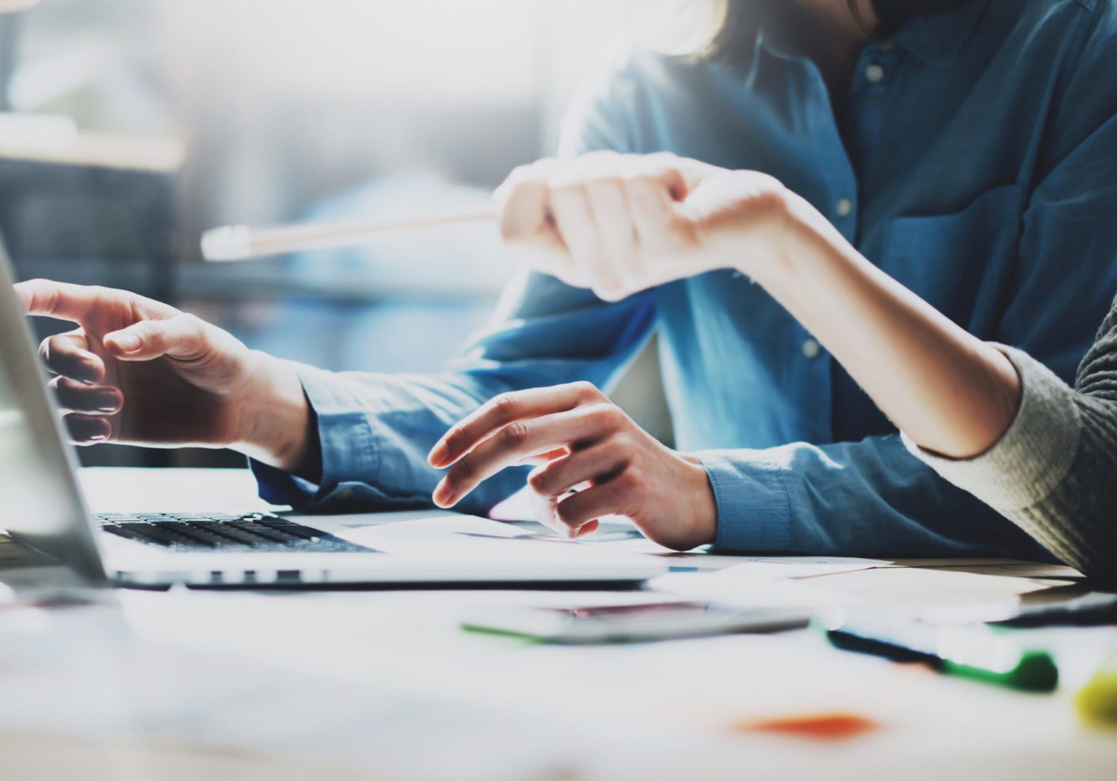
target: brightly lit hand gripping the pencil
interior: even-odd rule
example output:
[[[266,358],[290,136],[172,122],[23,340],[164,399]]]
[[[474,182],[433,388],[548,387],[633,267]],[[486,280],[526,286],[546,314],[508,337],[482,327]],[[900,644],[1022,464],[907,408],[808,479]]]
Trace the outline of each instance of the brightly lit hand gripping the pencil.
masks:
[[[717,269],[781,261],[775,179],[671,154],[595,152],[516,168],[495,194],[505,241],[536,271],[615,301]]]

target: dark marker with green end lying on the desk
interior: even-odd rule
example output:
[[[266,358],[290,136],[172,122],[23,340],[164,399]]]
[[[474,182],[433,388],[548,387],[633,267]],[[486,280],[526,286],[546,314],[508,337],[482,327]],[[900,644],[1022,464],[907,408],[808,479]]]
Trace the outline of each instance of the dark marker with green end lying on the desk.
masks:
[[[922,662],[948,675],[1024,692],[1052,692],[1059,684],[1051,654],[1021,648],[984,626],[844,620],[818,626],[839,648],[895,662]]]

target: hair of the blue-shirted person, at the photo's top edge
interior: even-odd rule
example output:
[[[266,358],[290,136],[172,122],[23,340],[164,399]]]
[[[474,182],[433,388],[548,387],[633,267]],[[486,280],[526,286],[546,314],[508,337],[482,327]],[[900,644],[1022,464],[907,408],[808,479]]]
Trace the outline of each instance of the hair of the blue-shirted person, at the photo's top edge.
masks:
[[[785,0],[717,0],[716,23],[698,56],[704,59],[739,59],[751,49],[756,37],[756,22],[765,2]],[[913,17],[946,11],[968,4],[972,0],[871,0],[879,25],[877,37],[888,37]],[[846,0],[850,13],[865,21],[858,0]]]

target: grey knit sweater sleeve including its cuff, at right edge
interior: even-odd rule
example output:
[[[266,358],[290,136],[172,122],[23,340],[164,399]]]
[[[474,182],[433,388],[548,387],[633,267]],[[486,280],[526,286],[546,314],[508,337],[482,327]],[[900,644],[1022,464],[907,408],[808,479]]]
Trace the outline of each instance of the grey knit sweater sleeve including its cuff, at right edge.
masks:
[[[1117,582],[1117,301],[1078,369],[1076,389],[997,345],[1023,385],[1009,431],[965,461],[908,447],[1083,575]]]

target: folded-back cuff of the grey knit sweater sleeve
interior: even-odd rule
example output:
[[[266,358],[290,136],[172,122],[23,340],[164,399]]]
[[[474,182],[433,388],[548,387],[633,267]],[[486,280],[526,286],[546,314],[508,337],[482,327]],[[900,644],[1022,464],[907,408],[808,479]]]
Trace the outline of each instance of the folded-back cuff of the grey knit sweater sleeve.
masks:
[[[1075,392],[1027,353],[994,345],[1016,367],[1020,409],[1004,435],[973,459],[946,459],[923,450],[906,434],[917,457],[955,485],[1008,513],[1043,501],[1067,476],[1078,450],[1081,416]]]

